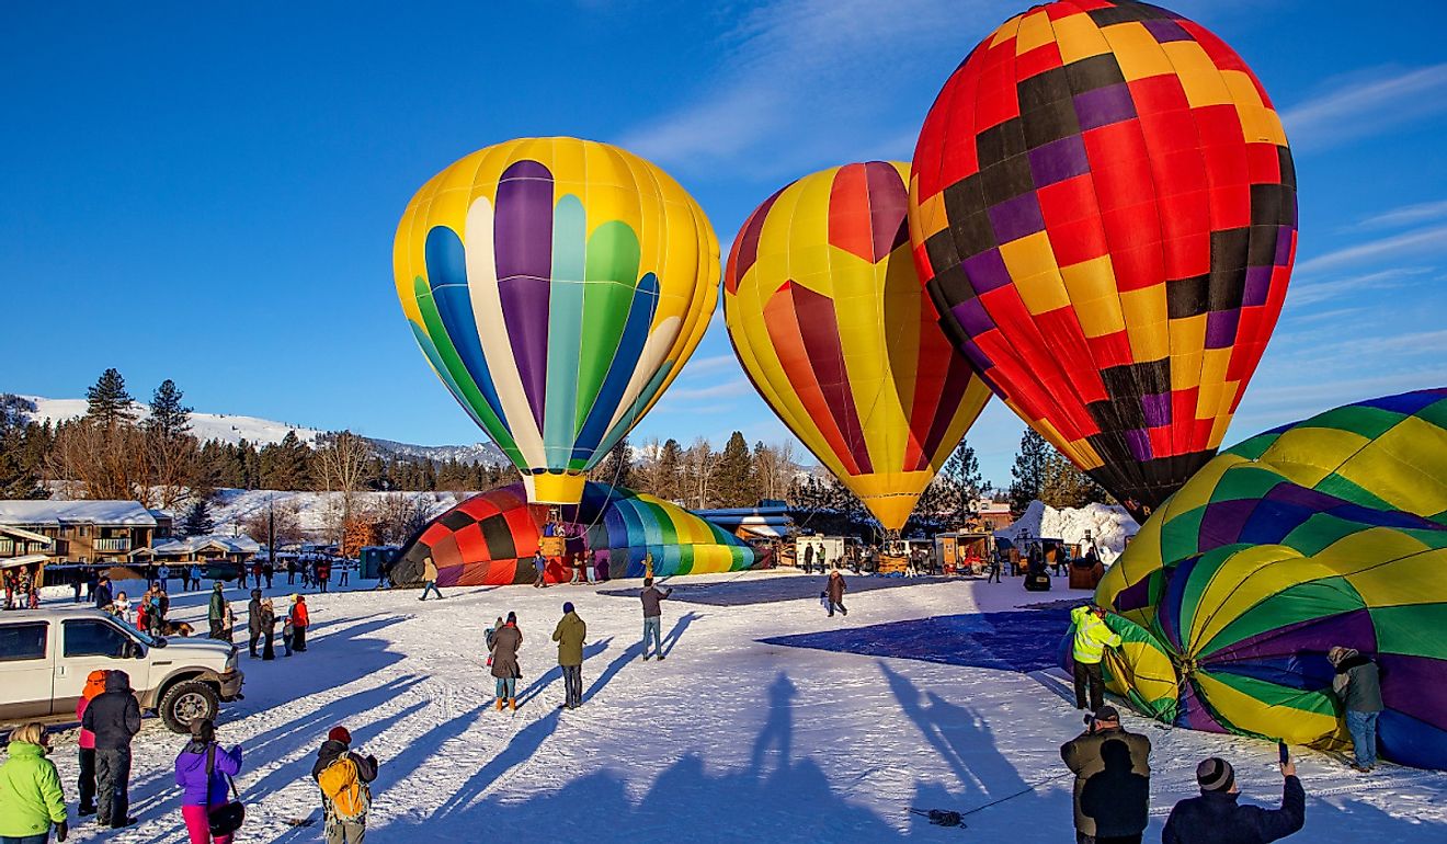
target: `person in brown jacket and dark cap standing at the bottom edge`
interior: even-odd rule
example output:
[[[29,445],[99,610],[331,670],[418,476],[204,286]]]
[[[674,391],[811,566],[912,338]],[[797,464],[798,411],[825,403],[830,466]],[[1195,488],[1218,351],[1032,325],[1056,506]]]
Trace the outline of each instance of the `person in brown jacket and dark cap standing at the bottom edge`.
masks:
[[[1140,844],[1150,811],[1150,740],[1127,733],[1110,705],[1085,724],[1085,733],[1061,746],[1075,772],[1075,841]]]

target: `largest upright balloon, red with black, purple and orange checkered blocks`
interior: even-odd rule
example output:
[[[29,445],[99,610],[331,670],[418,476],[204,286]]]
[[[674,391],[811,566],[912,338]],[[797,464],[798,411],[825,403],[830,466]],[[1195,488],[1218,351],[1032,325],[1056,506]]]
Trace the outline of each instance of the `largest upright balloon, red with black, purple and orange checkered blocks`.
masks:
[[[910,242],[946,332],[1137,520],[1220,447],[1297,249],[1281,119],[1220,38],[1143,3],[1011,17],[935,100]]]

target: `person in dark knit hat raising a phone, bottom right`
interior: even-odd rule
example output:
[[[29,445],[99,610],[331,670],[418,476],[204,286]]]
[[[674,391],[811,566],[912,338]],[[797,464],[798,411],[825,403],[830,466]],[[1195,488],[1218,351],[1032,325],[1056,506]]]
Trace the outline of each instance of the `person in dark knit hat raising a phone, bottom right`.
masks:
[[[1162,844],[1266,844],[1301,830],[1307,822],[1307,792],[1297,779],[1297,763],[1281,763],[1281,808],[1243,806],[1236,770],[1211,757],[1195,767],[1201,796],[1187,798],[1171,809]]]

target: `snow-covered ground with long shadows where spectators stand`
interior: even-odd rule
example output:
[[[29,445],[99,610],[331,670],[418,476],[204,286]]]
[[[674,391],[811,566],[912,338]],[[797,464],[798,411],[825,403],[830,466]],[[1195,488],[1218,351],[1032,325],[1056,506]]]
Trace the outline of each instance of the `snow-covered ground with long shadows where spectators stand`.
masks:
[[[1071,777],[1058,754],[1081,730],[1058,672],[1033,675],[913,659],[765,644],[774,636],[860,628],[1033,601],[1019,581],[912,582],[846,596],[826,618],[822,578],[750,572],[679,578],[664,604],[666,662],[640,660],[637,581],[599,586],[340,592],[311,598],[310,650],[247,660],[246,699],[226,705],[218,737],[245,747],[247,803],[239,841],[317,841],[317,747],[346,725],[382,760],[369,841],[1069,841]],[[1059,583],[1059,582],[1058,582]],[[683,589],[686,588],[686,589]],[[285,595],[278,585],[272,595]],[[744,601],[710,605],[682,601]],[[245,628],[245,592],[230,589]],[[803,595],[803,596],[799,596]],[[1084,598],[1085,594],[1075,592]],[[1059,585],[1045,599],[1066,598]],[[172,615],[198,627],[204,594]],[[585,704],[560,711],[548,641],[563,601],[587,621]],[[748,602],[754,601],[754,602]],[[517,611],[524,678],[517,714],[492,709],[483,628]],[[862,636],[862,634],[861,634]],[[1055,641],[1043,641],[1053,653]],[[243,646],[245,649],[245,646]],[[279,643],[278,643],[279,654]],[[1276,748],[1166,730],[1127,717],[1152,754],[1156,841],[1171,805],[1197,793],[1195,763],[1230,759],[1244,799],[1276,805]],[[72,734],[55,760],[75,801]],[[172,760],[184,738],[148,719],[135,744],[133,814],[122,832],[77,824],[72,840],[185,838]],[[1369,776],[1298,750],[1307,788],[1301,841],[1447,840],[1447,775],[1382,766]],[[1037,786],[1026,790],[1029,786]],[[1020,793],[1024,792],[1024,793]],[[1017,795],[1013,796],[1011,795]],[[930,827],[909,806],[969,811],[968,831]]]

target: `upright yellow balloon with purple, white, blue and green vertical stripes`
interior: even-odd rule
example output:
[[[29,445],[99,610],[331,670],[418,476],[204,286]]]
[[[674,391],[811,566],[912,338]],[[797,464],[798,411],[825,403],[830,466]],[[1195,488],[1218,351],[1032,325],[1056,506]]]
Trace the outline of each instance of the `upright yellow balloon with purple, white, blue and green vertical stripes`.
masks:
[[[459,159],[396,227],[396,294],[433,371],[522,472],[576,504],[718,301],[708,217],[669,174],[574,138]]]

